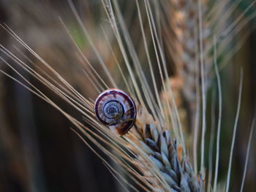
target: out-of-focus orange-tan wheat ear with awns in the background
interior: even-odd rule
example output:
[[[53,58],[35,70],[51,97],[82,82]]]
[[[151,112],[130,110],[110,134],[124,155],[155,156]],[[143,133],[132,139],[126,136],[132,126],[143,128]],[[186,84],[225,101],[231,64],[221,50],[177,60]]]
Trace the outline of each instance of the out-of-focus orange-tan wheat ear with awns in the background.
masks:
[[[204,162],[204,135],[206,132],[206,94],[208,88],[211,88],[213,71],[215,70],[214,63],[217,64],[220,57],[230,58],[233,51],[237,50],[240,45],[236,45],[230,49],[230,39],[235,39],[244,32],[244,28],[250,17],[244,17],[247,11],[255,4],[252,1],[248,7],[238,18],[232,18],[234,12],[241,1],[217,1],[211,4],[211,1],[163,1],[163,7],[168,20],[165,20],[165,36],[167,37],[167,47],[169,53],[173,55],[173,61],[176,66],[176,79],[182,82],[178,89],[178,94],[184,98],[184,103],[187,104],[187,129],[192,130],[193,139],[193,157],[194,169],[197,170],[197,145],[200,135],[200,110],[202,111],[203,130],[201,137],[201,166]],[[255,17],[255,14],[251,15]],[[243,18],[243,19],[241,19]],[[233,23],[230,26],[227,23]],[[227,25],[227,26],[226,26]],[[228,37],[227,37],[227,34]],[[246,32],[245,32],[246,36]],[[222,39],[222,37],[225,37]],[[215,40],[214,40],[215,38]],[[241,38],[243,42],[244,38]],[[223,41],[222,41],[223,40]],[[217,46],[218,53],[214,46]],[[212,54],[214,50],[214,54]],[[224,53],[224,54],[223,54]],[[222,55],[223,54],[223,55]],[[176,56],[178,55],[178,56]],[[216,61],[214,61],[216,60]],[[220,63],[222,66],[227,63]],[[217,75],[218,76],[218,75]],[[218,78],[218,86],[221,87]],[[201,84],[201,85],[200,85]],[[219,99],[221,100],[221,88],[219,89]],[[200,109],[200,100],[202,100],[202,108]],[[220,120],[218,123],[218,134],[220,134],[221,123],[221,101],[219,106]],[[184,104],[178,106],[180,111],[184,111]],[[183,109],[182,109],[183,108]],[[186,121],[186,120],[184,120]],[[189,123],[188,123],[189,122]],[[218,139],[219,140],[219,139]],[[219,146],[219,145],[218,145]],[[217,150],[219,151],[219,150]],[[217,155],[218,156],[218,155]]]

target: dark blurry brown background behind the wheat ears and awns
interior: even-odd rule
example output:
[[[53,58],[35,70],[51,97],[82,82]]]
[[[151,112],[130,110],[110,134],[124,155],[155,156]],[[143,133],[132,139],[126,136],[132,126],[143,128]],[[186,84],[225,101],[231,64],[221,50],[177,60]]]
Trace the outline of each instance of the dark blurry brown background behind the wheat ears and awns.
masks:
[[[99,0],[74,0],[76,9],[91,34],[97,49],[108,65],[110,72],[115,74],[115,80],[120,82],[120,74],[116,74],[113,57],[106,47],[101,28],[110,37],[110,27],[102,4]],[[127,21],[127,28],[136,39],[135,4],[120,1],[120,6]],[[67,1],[45,0],[0,0],[0,23],[7,23],[18,36],[23,39],[36,53],[56,69],[71,85],[87,98],[95,99],[97,92],[88,83],[83,72],[83,62],[78,56],[78,50],[69,39],[67,31],[61,24],[64,21],[72,37],[89,58],[95,68],[101,72],[97,58],[92,53],[88,39],[83,36],[80,26],[69,7]],[[249,137],[249,127],[255,114],[256,99],[256,21],[252,20],[252,32],[245,40],[241,50],[230,60],[222,70],[223,89],[223,122],[221,139],[220,175],[225,178],[227,169],[230,141],[233,123],[236,115],[238,99],[238,84],[241,66],[244,70],[244,88],[241,103],[241,115],[238,122],[238,133],[234,151],[233,170],[231,177],[231,191],[238,190],[244,170],[246,145]],[[137,26],[138,30],[138,26]],[[112,35],[113,38],[113,35]],[[1,28],[0,43],[15,55],[23,58],[29,64],[39,62],[28,53],[10,34]],[[234,42],[236,43],[236,42]],[[113,44],[114,52],[116,45]],[[140,46],[135,46],[140,47]],[[138,53],[140,49],[138,48]],[[6,61],[10,58],[0,53]],[[144,57],[144,58],[143,58]],[[118,58],[117,58],[118,59]],[[145,55],[141,60],[146,60]],[[171,58],[167,59],[172,62]],[[20,80],[4,63],[0,62],[0,69],[8,72]],[[19,68],[18,68],[19,69]],[[145,69],[148,70],[148,69]],[[170,66],[170,74],[174,69]],[[45,86],[22,73],[34,85],[47,93],[64,110],[78,119],[77,112],[67,103],[51,93]],[[210,112],[208,112],[210,114]],[[46,104],[33,93],[18,83],[0,73],[0,191],[123,191],[121,185],[108,172],[94,153],[89,150],[79,137],[70,129],[72,123],[64,118],[57,110]],[[255,134],[254,137],[255,138]],[[256,191],[256,141],[253,139],[249,158],[249,169],[246,175],[244,191]],[[107,157],[106,157],[107,158]]]

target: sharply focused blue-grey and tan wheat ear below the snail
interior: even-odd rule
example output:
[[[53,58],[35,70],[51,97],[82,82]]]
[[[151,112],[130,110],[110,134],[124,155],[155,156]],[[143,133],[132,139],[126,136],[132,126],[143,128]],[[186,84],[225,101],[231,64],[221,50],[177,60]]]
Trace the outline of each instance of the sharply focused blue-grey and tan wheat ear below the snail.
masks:
[[[135,164],[138,169],[148,182],[153,183],[153,191],[157,191],[157,185],[154,184],[156,179],[148,172],[148,168],[157,168],[157,173],[169,185],[170,191],[203,191],[203,178],[193,172],[189,158],[171,136],[169,128],[159,124],[146,110],[138,108],[135,128],[131,134],[127,134],[130,141],[146,153],[146,159],[143,153],[136,153],[138,159]]]

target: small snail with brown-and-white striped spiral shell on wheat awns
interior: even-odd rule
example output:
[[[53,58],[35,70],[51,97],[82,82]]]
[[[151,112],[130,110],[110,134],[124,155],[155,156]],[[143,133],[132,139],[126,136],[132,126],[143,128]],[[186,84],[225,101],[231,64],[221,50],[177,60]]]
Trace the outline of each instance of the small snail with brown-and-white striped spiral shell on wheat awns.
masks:
[[[137,115],[132,97],[116,88],[99,94],[94,103],[94,113],[100,123],[120,135],[126,134],[132,128]]]

